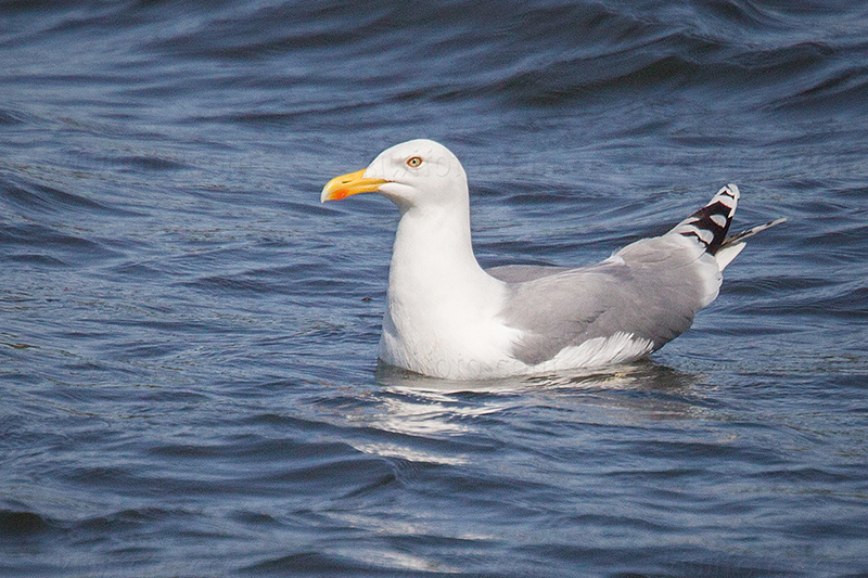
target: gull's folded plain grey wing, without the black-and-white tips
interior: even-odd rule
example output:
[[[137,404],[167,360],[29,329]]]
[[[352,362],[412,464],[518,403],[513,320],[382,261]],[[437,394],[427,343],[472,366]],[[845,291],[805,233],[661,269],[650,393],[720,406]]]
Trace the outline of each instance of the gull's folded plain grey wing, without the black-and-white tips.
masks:
[[[690,327],[720,285],[714,257],[680,235],[642,240],[579,269],[513,266],[488,272],[507,282],[501,316],[525,331],[512,355],[528,364],[617,332],[650,339],[658,349]]]

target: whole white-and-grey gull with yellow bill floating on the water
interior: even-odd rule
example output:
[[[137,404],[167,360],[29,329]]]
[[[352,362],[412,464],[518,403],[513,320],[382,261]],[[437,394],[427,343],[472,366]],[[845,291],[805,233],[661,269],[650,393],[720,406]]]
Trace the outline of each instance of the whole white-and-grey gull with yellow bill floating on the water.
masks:
[[[599,264],[486,271],[473,254],[467,177],[443,145],[417,140],[393,146],[363,171],[333,179],[322,201],[359,192],[379,192],[400,210],[380,358],[457,380],[600,368],[647,356],[714,300],[720,273],[744,239],[774,224],[727,244],[739,196],[728,185],[668,233]]]

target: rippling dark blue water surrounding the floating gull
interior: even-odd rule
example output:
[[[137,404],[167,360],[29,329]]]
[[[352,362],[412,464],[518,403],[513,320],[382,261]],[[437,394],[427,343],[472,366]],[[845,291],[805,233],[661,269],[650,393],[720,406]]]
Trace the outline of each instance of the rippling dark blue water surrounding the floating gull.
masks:
[[[868,5],[0,4],[0,575],[865,576]],[[598,375],[375,362],[416,137],[485,266],[788,217]]]

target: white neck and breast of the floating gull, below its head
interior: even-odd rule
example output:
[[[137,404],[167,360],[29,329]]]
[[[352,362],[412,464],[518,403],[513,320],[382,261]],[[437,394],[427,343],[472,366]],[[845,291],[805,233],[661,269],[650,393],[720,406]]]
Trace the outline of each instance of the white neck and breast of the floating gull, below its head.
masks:
[[[404,213],[388,273],[381,359],[441,376],[470,371],[452,363],[464,357],[500,361],[502,352],[490,344],[510,338],[499,332],[505,294],[503,283],[476,262],[467,210]]]

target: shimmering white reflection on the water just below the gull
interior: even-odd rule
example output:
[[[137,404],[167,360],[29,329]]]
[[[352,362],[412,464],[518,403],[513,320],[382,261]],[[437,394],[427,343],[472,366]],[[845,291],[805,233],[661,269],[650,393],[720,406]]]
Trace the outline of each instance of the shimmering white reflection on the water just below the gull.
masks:
[[[580,427],[695,419],[709,411],[701,395],[693,393],[701,376],[653,361],[609,372],[477,382],[432,378],[380,364],[375,377],[381,386],[379,409],[367,413],[367,425],[411,436],[412,441],[381,440],[366,451],[429,462],[470,460],[473,451],[462,451],[468,440],[495,441],[494,431],[510,429],[516,416],[544,421],[557,416],[552,427]],[[422,442],[429,440],[449,444]]]

